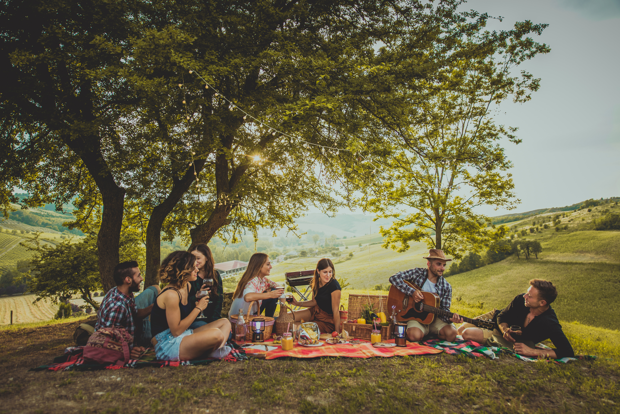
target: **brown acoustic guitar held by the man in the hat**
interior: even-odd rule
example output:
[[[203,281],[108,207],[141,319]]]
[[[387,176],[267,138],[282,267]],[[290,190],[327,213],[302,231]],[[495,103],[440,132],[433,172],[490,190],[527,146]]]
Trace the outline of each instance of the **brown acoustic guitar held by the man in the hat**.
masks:
[[[454,316],[452,312],[444,311],[439,307],[439,296],[435,293],[425,292],[420,289],[417,284],[410,283],[405,280],[405,283],[417,291],[422,292],[424,299],[420,302],[414,302],[414,298],[408,294],[403,293],[396,286],[392,284],[387,294],[387,309],[392,309],[392,306],[396,306],[396,319],[402,320],[417,320],[418,322],[428,325],[435,319],[435,315],[445,316],[451,318]],[[463,318],[464,322],[468,324],[476,325],[479,328],[493,330],[495,323],[487,319],[471,319],[459,315]]]

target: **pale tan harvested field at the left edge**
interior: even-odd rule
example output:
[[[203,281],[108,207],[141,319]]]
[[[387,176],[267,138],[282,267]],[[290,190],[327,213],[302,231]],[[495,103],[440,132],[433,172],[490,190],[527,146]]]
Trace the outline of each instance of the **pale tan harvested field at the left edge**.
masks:
[[[48,301],[39,301],[32,304],[35,295],[0,297],[0,325],[11,323],[11,311],[13,311],[13,323],[24,324],[50,320],[58,311],[57,305]]]

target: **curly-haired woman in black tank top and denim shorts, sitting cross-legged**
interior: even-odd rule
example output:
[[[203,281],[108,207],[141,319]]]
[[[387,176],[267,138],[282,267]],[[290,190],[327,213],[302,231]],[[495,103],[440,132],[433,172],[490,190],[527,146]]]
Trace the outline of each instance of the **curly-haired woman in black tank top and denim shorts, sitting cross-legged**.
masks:
[[[190,281],[196,280],[196,257],[190,252],[172,252],[159,268],[159,278],[167,283],[157,296],[151,311],[151,333],[155,355],[162,361],[187,361],[203,354],[223,358],[231,351],[226,340],[231,324],[218,319],[196,329],[190,325],[209,303],[205,296],[189,301]]]

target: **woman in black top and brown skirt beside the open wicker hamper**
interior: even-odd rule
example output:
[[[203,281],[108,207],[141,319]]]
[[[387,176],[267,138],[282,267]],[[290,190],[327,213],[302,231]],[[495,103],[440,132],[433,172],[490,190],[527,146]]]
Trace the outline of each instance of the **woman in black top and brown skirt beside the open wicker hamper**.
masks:
[[[314,277],[312,278],[312,300],[298,302],[293,299],[294,306],[307,307],[301,311],[293,312],[295,322],[302,319],[305,322],[316,322],[322,333],[338,332],[340,325],[340,284],[335,278],[334,263],[329,258],[322,258],[316,263]]]

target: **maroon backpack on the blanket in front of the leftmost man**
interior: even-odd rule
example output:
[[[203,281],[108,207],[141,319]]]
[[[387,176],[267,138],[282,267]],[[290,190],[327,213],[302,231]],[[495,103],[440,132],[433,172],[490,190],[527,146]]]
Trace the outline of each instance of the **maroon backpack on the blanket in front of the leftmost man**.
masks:
[[[123,327],[99,328],[84,346],[84,362],[124,365],[130,359],[133,337]]]

